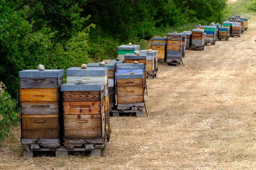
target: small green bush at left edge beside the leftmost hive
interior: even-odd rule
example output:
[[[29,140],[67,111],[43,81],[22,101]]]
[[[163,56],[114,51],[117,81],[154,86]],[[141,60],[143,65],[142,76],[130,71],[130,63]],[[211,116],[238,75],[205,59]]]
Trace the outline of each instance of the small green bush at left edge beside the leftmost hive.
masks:
[[[8,136],[9,127],[17,126],[20,114],[17,110],[17,102],[4,91],[6,89],[3,82],[0,82],[0,140]]]

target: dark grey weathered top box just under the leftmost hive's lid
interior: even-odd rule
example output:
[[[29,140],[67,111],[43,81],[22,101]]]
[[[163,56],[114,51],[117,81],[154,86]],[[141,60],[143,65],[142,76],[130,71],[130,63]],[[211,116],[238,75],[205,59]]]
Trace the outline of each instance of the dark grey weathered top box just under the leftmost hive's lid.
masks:
[[[59,78],[20,78],[20,88],[59,88],[63,79]]]

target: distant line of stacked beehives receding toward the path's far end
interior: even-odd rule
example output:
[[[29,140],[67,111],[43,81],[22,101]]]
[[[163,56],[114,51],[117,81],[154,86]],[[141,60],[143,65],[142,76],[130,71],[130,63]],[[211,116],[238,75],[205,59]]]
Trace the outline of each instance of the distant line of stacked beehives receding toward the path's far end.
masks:
[[[227,22],[198,25],[192,31],[168,33],[167,37],[154,37],[153,50],[158,50],[158,61],[164,64],[180,64],[187,50],[204,50],[205,45],[215,45],[217,40],[228,41],[229,37],[240,37],[248,28],[248,18],[239,15],[229,17]]]

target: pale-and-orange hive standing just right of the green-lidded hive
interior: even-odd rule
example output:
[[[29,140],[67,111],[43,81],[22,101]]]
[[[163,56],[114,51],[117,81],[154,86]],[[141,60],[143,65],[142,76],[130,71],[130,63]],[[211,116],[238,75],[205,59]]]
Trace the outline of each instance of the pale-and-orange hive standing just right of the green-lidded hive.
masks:
[[[147,52],[144,50],[140,50],[141,54],[147,55],[147,74],[155,74],[158,70],[158,51],[153,50],[151,52]]]

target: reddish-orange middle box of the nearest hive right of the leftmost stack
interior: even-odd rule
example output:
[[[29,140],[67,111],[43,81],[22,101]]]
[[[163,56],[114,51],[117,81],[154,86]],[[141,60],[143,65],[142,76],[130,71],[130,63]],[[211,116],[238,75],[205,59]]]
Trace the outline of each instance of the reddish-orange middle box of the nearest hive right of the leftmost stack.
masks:
[[[104,102],[63,102],[64,115],[101,114]],[[104,108],[104,106],[103,106]]]

